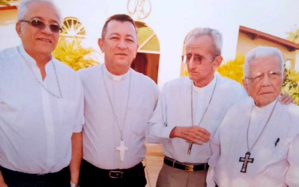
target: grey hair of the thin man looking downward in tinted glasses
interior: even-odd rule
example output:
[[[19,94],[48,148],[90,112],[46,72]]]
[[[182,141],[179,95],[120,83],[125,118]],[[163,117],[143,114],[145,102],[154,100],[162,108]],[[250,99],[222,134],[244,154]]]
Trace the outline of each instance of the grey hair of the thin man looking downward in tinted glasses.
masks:
[[[212,37],[212,55],[220,56],[222,50],[222,34],[217,29],[211,28],[195,28],[190,31],[186,37],[186,42],[192,37],[200,37],[204,35],[210,35]]]

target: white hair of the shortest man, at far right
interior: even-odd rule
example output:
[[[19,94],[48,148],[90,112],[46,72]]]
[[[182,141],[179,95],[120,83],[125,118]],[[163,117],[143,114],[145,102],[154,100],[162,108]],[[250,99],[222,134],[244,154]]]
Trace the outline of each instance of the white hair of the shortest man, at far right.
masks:
[[[274,47],[258,46],[256,48],[252,49],[251,51],[249,51],[246,55],[246,58],[244,61],[244,66],[243,66],[244,76],[245,77],[250,76],[249,65],[250,65],[250,62],[252,59],[269,57],[272,55],[277,55],[279,57],[280,70],[284,71],[285,60],[284,60],[282,53],[279,51],[279,49],[274,48]]]

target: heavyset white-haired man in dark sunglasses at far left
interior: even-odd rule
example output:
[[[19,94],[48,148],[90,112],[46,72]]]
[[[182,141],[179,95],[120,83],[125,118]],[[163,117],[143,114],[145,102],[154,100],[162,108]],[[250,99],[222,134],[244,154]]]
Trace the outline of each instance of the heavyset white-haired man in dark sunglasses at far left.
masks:
[[[1,187],[69,187],[70,169],[78,182],[80,151],[72,156],[71,141],[75,147],[81,137],[83,90],[51,55],[61,23],[52,1],[24,0],[16,24],[22,44],[0,52]]]

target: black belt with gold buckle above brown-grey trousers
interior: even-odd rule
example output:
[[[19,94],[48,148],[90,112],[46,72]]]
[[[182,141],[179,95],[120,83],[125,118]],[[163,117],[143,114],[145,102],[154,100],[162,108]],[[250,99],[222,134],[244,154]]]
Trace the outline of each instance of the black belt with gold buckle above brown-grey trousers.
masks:
[[[168,156],[164,157],[164,164],[178,169],[186,170],[186,171],[200,171],[200,170],[207,170],[209,168],[208,163],[187,164],[187,163],[176,161]]]

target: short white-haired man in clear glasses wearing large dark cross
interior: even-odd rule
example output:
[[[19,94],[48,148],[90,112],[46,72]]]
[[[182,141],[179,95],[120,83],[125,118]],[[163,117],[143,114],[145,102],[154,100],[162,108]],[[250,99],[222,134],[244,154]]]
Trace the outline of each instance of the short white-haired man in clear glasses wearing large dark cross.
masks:
[[[245,58],[250,98],[228,109],[211,142],[209,187],[299,186],[299,107],[281,105],[281,52],[257,47]]]

